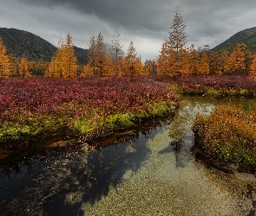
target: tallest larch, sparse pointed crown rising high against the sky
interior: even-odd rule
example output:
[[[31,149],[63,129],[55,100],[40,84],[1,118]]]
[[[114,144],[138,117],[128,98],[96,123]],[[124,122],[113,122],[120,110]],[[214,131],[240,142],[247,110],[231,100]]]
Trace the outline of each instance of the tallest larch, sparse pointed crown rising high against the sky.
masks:
[[[183,54],[186,54],[183,49],[186,48],[187,45],[187,34],[185,33],[186,25],[183,22],[181,12],[180,10],[176,10],[175,16],[174,16],[174,22],[170,29],[172,29],[171,32],[169,32],[169,44],[170,48],[174,50],[175,52],[175,67],[174,67],[174,75],[180,75],[182,73],[182,64],[187,56],[184,56]],[[183,72],[184,73],[184,72]]]

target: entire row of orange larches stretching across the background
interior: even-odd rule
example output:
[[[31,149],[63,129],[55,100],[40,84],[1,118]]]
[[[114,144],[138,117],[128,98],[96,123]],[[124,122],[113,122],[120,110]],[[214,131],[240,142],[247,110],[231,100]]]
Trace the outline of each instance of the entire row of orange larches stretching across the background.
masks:
[[[0,40],[0,79],[8,79],[12,74],[21,77],[30,76],[31,71],[46,77],[75,79],[77,76],[141,76],[166,75],[170,77],[197,74],[248,74],[256,80],[256,54],[246,50],[244,43],[234,48],[230,44],[225,49],[212,52],[209,46],[195,49],[194,45],[187,48],[186,25],[181,12],[176,10],[169,37],[162,43],[161,51],[156,60],[141,62],[130,41],[127,54],[122,50],[120,34],[115,31],[111,47],[106,48],[104,37],[100,32],[97,37],[90,37],[88,63],[78,66],[74,44],[70,33],[66,41],[59,41],[50,62],[34,62],[9,57],[3,41]]]

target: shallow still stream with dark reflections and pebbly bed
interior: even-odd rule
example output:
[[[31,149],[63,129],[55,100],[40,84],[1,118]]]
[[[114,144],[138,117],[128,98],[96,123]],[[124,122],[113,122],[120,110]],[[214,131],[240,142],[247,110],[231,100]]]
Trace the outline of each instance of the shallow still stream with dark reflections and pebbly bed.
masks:
[[[255,176],[210,168],[191,151],[196,113],[217,104],[183,98],[173,119],[125,131],[113,144],[68,139],[2,154],[0,215],[255,215]]]

